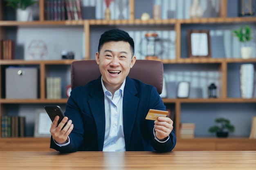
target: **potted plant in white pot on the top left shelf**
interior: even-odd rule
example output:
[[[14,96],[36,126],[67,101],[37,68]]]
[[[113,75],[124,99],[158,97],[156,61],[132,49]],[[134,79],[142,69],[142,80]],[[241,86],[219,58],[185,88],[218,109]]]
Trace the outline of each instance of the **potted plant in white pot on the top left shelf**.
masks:
[[[16,10],[16,18],[18,21],[28,21],[31,18],[31,11],[27,7],[35,4],[34,0],[5,0],[6,6],[12,7]]]

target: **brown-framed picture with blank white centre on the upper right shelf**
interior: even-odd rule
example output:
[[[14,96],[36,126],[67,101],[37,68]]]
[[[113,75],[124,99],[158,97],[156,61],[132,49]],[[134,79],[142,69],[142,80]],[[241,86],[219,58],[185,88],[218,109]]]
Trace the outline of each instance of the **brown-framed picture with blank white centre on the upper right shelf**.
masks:
[[[189,57],[211,57],[209,30],[187,30]]]

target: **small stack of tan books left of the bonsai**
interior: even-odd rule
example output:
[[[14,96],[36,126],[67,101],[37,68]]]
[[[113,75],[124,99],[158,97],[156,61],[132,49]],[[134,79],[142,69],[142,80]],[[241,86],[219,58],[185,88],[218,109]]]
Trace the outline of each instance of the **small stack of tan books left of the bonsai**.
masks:
[[[194,138],[195,124],[181,123],[180,124],[180,138]]]

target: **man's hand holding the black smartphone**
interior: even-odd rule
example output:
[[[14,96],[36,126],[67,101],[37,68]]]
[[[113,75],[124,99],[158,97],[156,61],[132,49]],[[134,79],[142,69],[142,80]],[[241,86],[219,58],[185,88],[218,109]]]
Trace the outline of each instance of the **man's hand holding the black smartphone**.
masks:
[[[68,120],[67,117],[64,117],[60,124],[58,124],[59,116],[54,118],[54,121],[51,124],[50,133],[54,141],[58,144],[65,144],[67,143],[67,136],[73,130],[74,125],[72,124],[72,120]],[[65,123],[67,122],[66,126],[63,128]],[[57,126],[58,124],[58,126]],[[62,129],[63,128],[63,129]]]

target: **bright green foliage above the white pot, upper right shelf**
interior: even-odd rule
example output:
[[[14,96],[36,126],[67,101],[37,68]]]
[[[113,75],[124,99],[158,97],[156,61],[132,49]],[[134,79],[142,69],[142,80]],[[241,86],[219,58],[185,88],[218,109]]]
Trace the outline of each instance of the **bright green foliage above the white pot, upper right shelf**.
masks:
[[[252,40],[252,31],[251,28],[247,25],[245,27],[240,26],[240,28],[232,30],[234,36],[238,38],[239,42],[243,42],[246,45],[246,42]]]

